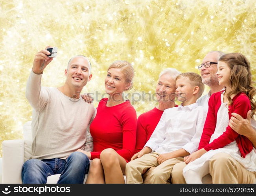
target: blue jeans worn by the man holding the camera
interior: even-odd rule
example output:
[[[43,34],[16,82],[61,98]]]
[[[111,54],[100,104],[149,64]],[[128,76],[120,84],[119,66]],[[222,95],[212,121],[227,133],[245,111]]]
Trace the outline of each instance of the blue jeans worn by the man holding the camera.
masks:
[[[61,174],[58,184],[83,183],[89,166],[89,159],[82,152],[73,152],[66,160],[29,159],[23,164],[21,178],[24,184],[46,184],[48,176]]]

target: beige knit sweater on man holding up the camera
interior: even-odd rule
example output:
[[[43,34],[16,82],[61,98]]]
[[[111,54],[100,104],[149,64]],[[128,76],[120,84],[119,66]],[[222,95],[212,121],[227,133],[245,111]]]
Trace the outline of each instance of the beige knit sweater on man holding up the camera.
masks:
[[[72,99],[57,88],[41,87],[41,77],[31,71],[26,86],[26,98],[33,108],[31,158],[66,159],[84,148],[96,109],[81,97]]]

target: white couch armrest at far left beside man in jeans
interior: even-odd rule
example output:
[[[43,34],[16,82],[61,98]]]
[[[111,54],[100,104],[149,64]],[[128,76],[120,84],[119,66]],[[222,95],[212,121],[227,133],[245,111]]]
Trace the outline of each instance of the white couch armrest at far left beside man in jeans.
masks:
[[[22,183],[21,170],[24,163],[24,140],[5,140],[2,142],[2,183]]]

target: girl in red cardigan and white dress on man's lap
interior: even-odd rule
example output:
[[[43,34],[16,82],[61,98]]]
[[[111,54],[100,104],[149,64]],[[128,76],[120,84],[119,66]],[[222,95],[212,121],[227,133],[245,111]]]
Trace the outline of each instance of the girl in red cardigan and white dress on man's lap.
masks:
[[[253,97],[256,89],[252,86],[249,61],[240,53],[229,53],[219,59],[217,68],[219,85],[225,86],[225,90],[210,97],[199,150],[184,157],[188,164],[183,169],[186,183],[202,183],[203,176],[209,173],[209,160],[217,153],[229,154],[256,174],[256,153],[252,143],[228,125],[232,112],[243,118],[249,110],[252,115],[255,113]]]

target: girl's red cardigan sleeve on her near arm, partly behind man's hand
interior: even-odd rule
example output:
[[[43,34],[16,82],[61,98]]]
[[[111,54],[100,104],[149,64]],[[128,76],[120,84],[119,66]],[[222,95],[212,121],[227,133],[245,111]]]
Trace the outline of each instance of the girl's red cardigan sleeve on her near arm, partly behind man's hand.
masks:
[[[247,116],[247,112],[251,109],[250,107],[250,100],[247,96],[245,95],[240,95],[232,104],[232,108],[233,111],[236,114],[241,115],[241,117],[243,117],[244,119]],[[230,109],[229,109],[230,111]],[[230,111],[231,112],[231,111]],[[206,145],[204,147],[205,150],[214,150],[217,148],[222,148],[226,145],[228,145],[229,143],[231,143],[232,141],[234,141],[237,137],[239,136],[239,134],[237,132],[235,132],[232,128],[230,128],[230,126],[227,126],[226,131],[219,136],[217,139],[214,139],[214,141],[212,141],[212,143]]]

